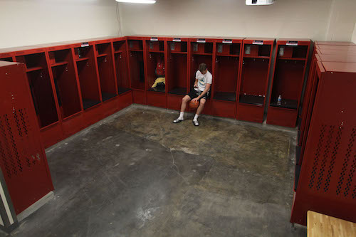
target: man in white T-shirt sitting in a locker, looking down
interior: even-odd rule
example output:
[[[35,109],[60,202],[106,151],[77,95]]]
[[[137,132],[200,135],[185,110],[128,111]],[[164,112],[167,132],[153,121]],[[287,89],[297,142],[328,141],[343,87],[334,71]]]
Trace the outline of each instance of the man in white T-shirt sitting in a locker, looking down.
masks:
[[[190,100],[200,102],[197,109],[197,113],[194,116],[193,124],[194,126],[199,126],[198,117],[204,109],[206,99],[209,97],[210,86],[213,81],[213,76],[209,72],[205,63],[199,65],[199,70],[195,73],[195,83],[194,90],[191,90],[188,95],[185,95],[182,99],[182,105],[180,109],[180,115],[174,123],[182,122],[184,120],[184,110],[187,107],[187,102]]]

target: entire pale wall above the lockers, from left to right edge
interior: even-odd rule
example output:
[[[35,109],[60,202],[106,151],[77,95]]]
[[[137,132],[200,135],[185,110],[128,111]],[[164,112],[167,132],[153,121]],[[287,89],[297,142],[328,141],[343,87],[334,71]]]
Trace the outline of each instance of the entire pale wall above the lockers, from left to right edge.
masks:
[[[356,0],[277,0],[271,6],[246,6],[245,0],[157,0],[119,6],[124,35],[350,41],[356,21]],[[118,31],[115,0],[0,0],[0,48],[117,36]]]

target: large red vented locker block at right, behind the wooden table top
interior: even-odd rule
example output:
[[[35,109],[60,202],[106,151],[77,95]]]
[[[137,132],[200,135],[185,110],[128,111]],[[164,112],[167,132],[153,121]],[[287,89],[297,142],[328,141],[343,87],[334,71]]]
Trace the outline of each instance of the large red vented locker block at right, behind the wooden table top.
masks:
[[[318,62],[315,68],[291,222],[305,225],[308,210],[356,222],[356,63]]]

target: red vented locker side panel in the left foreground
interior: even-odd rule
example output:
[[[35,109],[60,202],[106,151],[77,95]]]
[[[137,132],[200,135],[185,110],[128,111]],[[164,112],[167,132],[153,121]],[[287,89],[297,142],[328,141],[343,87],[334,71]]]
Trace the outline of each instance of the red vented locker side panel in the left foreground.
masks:
[[[0,61],[0,167],[16,214],[53,190],[25,65]]]

